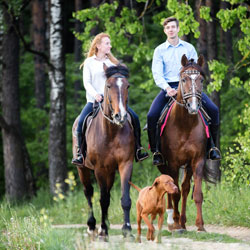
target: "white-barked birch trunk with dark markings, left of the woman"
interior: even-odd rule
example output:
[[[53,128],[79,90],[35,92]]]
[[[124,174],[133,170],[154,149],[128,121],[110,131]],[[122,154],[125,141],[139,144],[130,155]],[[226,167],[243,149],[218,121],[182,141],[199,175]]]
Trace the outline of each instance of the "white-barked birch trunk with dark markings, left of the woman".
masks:
[[[63,51],[62,0],[51,0],[50,5],[50,129],[49,129],[49,181],[55,194],[56,183],[64,192],[67,175],[66,157],[66,97],[65,55]]]

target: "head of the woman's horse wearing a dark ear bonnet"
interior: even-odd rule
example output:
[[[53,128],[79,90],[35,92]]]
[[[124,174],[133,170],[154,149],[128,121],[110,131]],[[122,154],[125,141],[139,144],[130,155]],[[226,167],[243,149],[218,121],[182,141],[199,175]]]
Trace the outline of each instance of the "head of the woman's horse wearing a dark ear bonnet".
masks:
[[[111,117],[113,123],[123,126],[127,120],[128,68],[121,64],[111,67],[104,64],[103,68],[107,77],[104,90],[105,112]]]

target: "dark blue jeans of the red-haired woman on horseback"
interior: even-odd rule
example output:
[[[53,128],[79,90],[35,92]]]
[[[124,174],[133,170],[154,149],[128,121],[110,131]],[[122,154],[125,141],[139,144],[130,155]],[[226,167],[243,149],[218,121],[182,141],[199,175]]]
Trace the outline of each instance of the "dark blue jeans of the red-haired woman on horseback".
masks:
[[[82,109],[82,112],[80,114],[80,118],[79,118],[79,121],[78,121],[78,126],[77,126],[77,129],[76,129],[77,133],[82,133],[83,122],[84,122],[86,116],[92,111],[93,111],[93,103],[88,102],[84,106],[84,108]],[[139,121],[138,115],[130,107],[128,107],[128,112],[133,116],[132,122],[133,122],[134,128],[138,129],[138,132],[140,133],[140,121]]]

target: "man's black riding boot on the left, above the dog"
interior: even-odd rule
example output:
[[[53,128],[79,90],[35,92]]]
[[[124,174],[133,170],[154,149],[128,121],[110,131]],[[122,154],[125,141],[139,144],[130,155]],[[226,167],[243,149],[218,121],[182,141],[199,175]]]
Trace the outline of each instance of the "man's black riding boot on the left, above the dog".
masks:
[[[151,152],[153,153],[153,165],[163,165],[164,161],[160,152],[160,138],[157,129],[148,129],[148,140]]]

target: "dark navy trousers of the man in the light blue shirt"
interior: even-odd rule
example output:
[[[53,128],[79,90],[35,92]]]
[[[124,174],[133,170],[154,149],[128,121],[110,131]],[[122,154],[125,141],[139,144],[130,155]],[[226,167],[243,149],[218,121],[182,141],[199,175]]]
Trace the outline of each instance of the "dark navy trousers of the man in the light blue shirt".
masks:
[[[178,83],[170,84],[170,86],[177,89]],[[148,129],[156,128],[156,124],[160,118],[161,111],[168,103],[169,99],[170,97],[166,96],[166,91],[164,90],[161,90],[160,93],[155,97],[147,115]],[[202,106],[211,117],[211,124],[219,125],[219,109],[205,93],[202,93]]]

